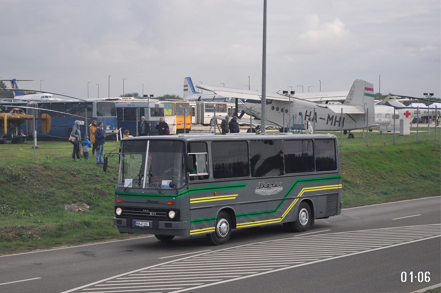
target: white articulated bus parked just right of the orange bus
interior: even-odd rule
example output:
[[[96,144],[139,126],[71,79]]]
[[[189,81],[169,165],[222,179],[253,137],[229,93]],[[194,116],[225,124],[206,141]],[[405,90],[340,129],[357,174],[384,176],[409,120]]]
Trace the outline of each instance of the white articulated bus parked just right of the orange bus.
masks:
[[[238,116],[242,113],[243,104],[238,105]],[[191,111],[191,124],[201,124],[204,126],[213,123],[213,115],[222,116],[225,115],[231,117],[235,112],[235,103],[230,102],[219,102],[219,101],[191,101],[190,102]],[[241,121],[243,123],[241,123]],[[250,115],[243,114],[242,118],[238,120],[239,124],[250,125]],[[218,121],[220,124],[220,121]]]

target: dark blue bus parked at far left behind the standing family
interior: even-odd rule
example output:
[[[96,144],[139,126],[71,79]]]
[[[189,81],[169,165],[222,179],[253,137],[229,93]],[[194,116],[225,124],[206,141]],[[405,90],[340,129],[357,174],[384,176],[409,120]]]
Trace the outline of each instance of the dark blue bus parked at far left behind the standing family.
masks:
[[[88,125],[92,120],[102,121],[104,123],[104,131],[108,134],[114,133],[118,124],[116,121],[116,106],[113,101],[78,101],[78,100],[49,100],[42,99],[39,101],[0,101],[0,109],[9,112],[12,107],[21,108],[28,115],[41,117],[46,113],[51,116],[51,130],[48,134],[41,132],[41,122],[36,120],[37,138],[65,139],[71,135],[72,127],[75,120],[80,121],[81,136],[90,135]],[[52,111],[51,111],[52,110]],[[84,125],[87,110],[87,124]],[[57,112],[54,112],[57,111]],[[10,137],[9,133],[15,129],[8,129],[4,138]],[[20,125],[23,135],[32,138],[32,120]]]

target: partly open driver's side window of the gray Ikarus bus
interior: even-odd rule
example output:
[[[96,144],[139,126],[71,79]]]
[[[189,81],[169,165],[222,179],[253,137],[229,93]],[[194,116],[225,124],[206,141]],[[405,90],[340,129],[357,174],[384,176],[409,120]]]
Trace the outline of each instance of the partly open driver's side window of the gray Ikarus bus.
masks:
[[[190,180],[208,180],[207,144],[188,143],[188,154],[193,157],[193,171],[188,174]]]

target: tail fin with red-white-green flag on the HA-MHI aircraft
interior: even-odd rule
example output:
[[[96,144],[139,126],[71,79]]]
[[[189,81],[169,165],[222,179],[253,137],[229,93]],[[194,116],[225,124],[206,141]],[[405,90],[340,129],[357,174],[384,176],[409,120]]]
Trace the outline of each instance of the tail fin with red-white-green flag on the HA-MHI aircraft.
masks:
[[[343,104],[362,106],[365,113],[369,111],[369,120],[374,121],[374,85],[365,80],[355,79]]]

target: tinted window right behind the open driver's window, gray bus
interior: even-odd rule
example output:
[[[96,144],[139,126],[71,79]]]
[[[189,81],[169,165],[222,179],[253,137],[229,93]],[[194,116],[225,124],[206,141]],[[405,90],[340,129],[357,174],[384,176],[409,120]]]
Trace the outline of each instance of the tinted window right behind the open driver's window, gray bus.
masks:
[[[214,179],[249,176],[247,142],[213,142],[211,154]]]

